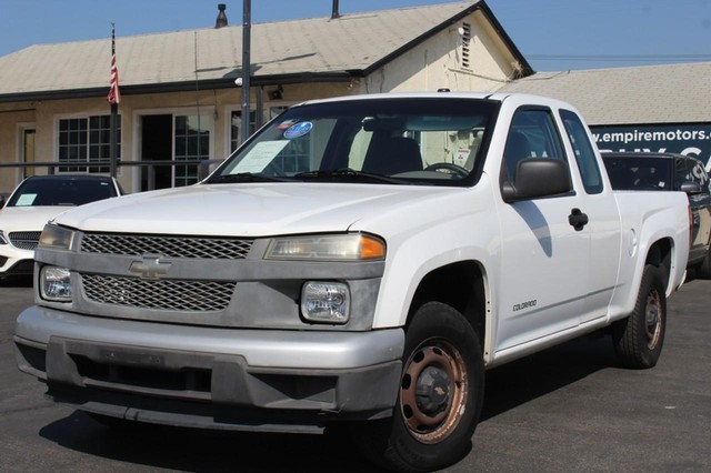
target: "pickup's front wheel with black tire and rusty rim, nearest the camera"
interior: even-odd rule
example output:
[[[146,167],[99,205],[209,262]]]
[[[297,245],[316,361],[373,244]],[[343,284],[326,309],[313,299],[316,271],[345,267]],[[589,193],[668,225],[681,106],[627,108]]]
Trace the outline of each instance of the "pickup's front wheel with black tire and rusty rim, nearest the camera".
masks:
[[[407,329],[402,362],[392,417],[358,430],[359,445],[371,460],[401,472],[458,462],[471,449],[484,394],[474,330],[451,306],[425,303]]]

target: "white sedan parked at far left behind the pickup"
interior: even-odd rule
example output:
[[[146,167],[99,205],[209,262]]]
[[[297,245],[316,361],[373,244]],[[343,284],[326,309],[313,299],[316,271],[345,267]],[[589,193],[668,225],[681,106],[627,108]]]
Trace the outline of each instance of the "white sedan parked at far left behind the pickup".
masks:
[[[121,195],[116,179],[92,174],[34,175],[0,209],[0,279],[32,274],[44,224],[72,207]]]

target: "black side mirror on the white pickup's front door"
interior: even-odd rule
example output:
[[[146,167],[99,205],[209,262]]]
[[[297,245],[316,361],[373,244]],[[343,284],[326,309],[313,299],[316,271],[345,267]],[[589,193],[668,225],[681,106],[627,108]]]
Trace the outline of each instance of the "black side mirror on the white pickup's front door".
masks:
[[[504,202],[557,195],[573,190],[570,168],[562,160],[527,158],[517,164],[515,182],[504,182],[501,194]]]

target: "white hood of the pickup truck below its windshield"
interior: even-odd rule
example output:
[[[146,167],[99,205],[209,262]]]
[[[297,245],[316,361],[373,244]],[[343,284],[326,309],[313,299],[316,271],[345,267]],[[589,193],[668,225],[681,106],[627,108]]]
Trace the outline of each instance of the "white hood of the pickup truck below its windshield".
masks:
[[[83,231],[262,236],[347,231],[457,188],[342,183],[197,184],[82,205],[56,222]]]

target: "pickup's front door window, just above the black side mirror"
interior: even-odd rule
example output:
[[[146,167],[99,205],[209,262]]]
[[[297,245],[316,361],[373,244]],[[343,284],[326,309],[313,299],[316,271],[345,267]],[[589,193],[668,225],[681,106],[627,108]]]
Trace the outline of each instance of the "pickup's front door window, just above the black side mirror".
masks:
[[[515,182],[519,161],[527,158],[564,160],[555,122],[548,109],[520,109],[513,115],[503,151],[508,180]]]

